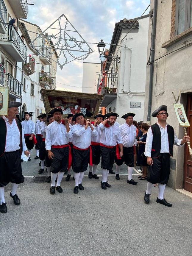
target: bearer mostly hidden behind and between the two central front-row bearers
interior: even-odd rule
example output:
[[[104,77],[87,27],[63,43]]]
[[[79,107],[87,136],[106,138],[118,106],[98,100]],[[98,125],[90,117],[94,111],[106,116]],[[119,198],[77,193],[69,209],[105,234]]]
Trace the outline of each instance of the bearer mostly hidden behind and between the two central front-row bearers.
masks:
[[[99,124],[104,120],[104,115],[102,114],[97,114],[95,116],[93,116],[94,119],[96,119],[94,121],[94,123],[92,124],[92,126],[95,127],[98,136],[91,136],[91,150],[92,150],[92,163],[93,165],[89,165],[89,178],[92,179],[99,179],[99,177],[96,174],[97,171],[97,166],[100,162],[100,158],[101,158],[101,150],[100,150],[100,138],[101,138],[101,130],[99,129]],[[93,169],[93,173],[92,173],[92,169]]]

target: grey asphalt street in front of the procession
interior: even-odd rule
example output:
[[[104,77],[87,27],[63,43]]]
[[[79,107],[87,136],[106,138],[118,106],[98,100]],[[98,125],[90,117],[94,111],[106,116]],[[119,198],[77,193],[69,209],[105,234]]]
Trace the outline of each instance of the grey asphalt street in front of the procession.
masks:
[[[135,177],[136,178],[136,177]],[[127,184],[127,176],[108,178],[111,188],[83,178],[84,191],[73,193],[74,181],[63,178],[63,193],[49,193],[50,183],[26,178],[13,204],[7,186],[8,212],[0,214],[1,255],[191,255],[192,200],[166,187],[165,198],[173,204],[143,200],[146,180]]]

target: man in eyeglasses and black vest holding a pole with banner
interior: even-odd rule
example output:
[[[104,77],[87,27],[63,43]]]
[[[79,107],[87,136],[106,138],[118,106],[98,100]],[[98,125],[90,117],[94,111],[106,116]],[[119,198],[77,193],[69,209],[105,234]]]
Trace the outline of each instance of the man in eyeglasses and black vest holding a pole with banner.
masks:
[[[170,174],[170,155],[173,156],[173,145],[184,146],[187,141],[190,141],[190,137],[184,136],[182,140],[177,138],[173,127],[166,123],[168,117],[167,106],[160,106],[152,113],[152,116],[157,117],[158,121],[147,132],[145,156],[149,168],[144,200],[149,203],[153,184],[159,183],[156,202],[171,207],[172,205],[163,196]]]

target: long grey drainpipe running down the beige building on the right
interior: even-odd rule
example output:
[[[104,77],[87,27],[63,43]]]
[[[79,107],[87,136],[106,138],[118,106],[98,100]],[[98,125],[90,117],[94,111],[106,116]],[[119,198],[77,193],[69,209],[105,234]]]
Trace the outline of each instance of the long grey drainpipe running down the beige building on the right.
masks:
[[[156,21],[157,21],[157,0],[154,0],[153,25],[152,25],[152,36],[151,36],[151,59],[150,59],[150,61],[154,60],[154,55],[155,55]],[[152,92],[153,92],[153,70],[154,70],[154,63],[150,64],[149,100],[148,100],[148,112],[147,112],[147,121],[148,121],[148,123],[150,123],[150,120],[151,120],[151,105],[152,105]]]

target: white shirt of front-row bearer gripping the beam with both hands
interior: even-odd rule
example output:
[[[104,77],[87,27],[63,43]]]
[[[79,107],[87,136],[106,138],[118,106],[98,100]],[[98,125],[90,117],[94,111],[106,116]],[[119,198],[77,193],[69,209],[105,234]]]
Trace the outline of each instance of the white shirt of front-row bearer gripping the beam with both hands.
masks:
[[[80,149],[87,149],[91,144],[91,136],[96,137],[98,135],[95,127],[93,127],[92,132],[89,126],[85,129],[85,125],[82,126],[81,124],[74,124],[71,131],[73,133],[73,145]]]

